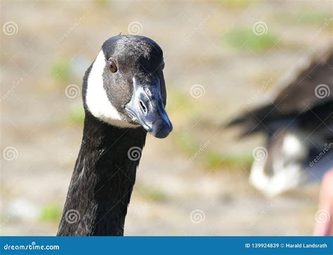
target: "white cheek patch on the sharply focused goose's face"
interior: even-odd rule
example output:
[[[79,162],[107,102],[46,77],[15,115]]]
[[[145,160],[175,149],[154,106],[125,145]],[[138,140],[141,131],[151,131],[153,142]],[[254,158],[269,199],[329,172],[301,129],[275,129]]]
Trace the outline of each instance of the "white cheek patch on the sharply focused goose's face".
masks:
[[[113,106],[107,98],[107,94],[103,87],[105,64],[106,61],[103,50],[100,50],[93,63],[87,82],[86,105],[88,106],[89,111],[96,118],[119,128],[138,127],[137,125],[132,125],[126,120],[123,120],[115,106]]]

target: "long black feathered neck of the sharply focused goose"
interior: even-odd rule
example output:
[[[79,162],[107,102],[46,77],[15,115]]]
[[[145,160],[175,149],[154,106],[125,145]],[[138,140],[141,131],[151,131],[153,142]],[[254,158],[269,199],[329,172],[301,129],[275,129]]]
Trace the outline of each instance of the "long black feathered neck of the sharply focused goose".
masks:
[[[142,128],[115,128],[86,111],[81,149],[58,235],[124,234],[139,163],[133,161],[135,156],[131,160],[128,151],[131,147],[142,150],[145,137]]]

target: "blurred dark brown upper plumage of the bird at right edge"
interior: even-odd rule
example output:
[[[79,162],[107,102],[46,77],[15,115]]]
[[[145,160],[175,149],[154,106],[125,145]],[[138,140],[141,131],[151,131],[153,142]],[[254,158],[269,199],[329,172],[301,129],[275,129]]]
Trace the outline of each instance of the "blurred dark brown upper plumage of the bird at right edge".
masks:
[[[272,104],[255,108],[248,113],[235,118],[228,126],[242,125],[244,135],[254,132],[269,132],[274,130],[277,122],[288,123],[295,120],[293,125],[305,125],[306,128],[318,127],[321,123],[315,115],[325,120],[333,112],[333,51],[329,49],[325,56],[315,59],[307,68],[301,71],[296,78],[289,82],[273,99]],[[328,97],[316,97],[315,89],[318,85],[329,87]],[[326,93],[326,92],[325,92]],[[332,116],[325,122],[333,128]],[[312,120],[308,123],[306,120]],[[259,121],[260,120],[260,121]],[[312,124],[312,125],[311,125]],[[325,127],[322,127],[325,129]],[[328,134],[328,135],[332,135]]]

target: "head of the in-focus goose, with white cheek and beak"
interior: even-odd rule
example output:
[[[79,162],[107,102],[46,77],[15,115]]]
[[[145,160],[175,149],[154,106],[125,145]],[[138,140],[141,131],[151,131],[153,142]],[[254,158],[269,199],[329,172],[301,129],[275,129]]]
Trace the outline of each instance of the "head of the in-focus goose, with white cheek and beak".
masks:
[[[142,127],[158,138],[172,130],[165,110],[163,51],[148,37],[107,39],[86,73],[84,106],[117,128]]]

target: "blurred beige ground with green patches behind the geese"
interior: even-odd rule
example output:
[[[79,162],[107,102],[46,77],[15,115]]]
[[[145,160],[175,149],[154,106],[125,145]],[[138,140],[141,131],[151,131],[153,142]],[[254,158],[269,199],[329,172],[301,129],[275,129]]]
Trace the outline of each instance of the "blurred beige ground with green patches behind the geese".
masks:
[[[249,185],[256,135],[223,123],[332,42],[332,1],[1,1],[1,235],[55,235],[81,142],[81,80],[105,39],[164,51],[174,131],[148,136],[125,235],[312,235],[319,182]]]

